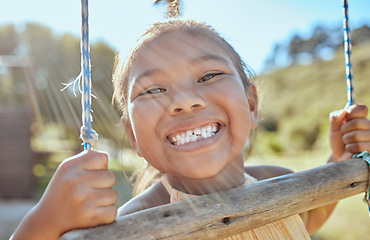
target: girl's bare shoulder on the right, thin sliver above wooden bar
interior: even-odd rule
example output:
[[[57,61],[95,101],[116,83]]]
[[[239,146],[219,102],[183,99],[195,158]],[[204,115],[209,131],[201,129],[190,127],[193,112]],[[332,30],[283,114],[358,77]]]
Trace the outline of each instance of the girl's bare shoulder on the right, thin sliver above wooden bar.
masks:
[[[257,180],[264,180],[293,173],[290,169],[272,165],[247,166],[244,167],[244,171]]]

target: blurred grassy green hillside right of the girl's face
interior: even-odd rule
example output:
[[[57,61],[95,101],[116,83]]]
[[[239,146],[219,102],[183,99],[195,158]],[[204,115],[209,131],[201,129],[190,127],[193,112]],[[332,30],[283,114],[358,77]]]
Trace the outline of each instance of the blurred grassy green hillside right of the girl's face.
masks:
[[[370,104],[370,42],[353,48],[356,103]],[[329,113],[346,104],[343,50],[329,61],[293,65],[257,77],[260,126],[255,153],[328,149]]]

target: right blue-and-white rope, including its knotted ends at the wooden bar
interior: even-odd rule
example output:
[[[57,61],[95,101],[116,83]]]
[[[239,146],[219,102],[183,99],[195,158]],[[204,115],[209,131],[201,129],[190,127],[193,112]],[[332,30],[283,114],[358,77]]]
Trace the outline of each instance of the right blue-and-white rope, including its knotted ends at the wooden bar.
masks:
[[[346,79],[347,79],[347,105],[345,108],[353,105],[355,103],[355,93],[353,89],[353,72],[352,72],[352,61],[351,61],[351,31],[348,23],[348,1],[343,0],[343,33],[344,33],[344,57],[346,63]],[[367,151],[357,153],[353,155],[353,158],[361,158],[370,167],[370,154]],[[364,198],[365,203],[368,205],[370,214],[370,184],[365,193]]]

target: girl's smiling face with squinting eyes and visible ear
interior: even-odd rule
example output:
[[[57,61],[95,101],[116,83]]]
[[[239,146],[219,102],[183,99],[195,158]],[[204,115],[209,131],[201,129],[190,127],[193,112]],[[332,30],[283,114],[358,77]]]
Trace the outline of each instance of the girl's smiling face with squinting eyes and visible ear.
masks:
[[[231,163],[257,126],[255,87],[206,36],[172,31],[136,54],[128,83],[131,140],[161,172],[209,178]]]

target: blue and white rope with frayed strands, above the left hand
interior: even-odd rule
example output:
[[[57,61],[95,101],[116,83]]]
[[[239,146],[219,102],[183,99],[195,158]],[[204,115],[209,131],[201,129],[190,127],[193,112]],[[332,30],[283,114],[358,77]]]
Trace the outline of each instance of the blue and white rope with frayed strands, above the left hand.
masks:
[[[90,150],[91,146],[94,145],[95,141],[98,139],[98,134],[91,127],[91,72],[88,0],[81,0],[81,13],[82,127],[80,138],[84,142],[84,148],[86,150]]]

